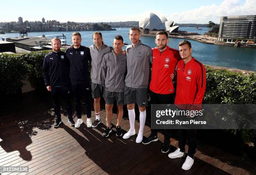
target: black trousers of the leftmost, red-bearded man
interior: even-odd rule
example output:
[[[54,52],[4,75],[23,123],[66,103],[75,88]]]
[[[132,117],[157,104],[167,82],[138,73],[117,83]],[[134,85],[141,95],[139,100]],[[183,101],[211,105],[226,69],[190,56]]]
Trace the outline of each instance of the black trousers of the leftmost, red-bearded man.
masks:
[[[51,87],[51,96],[54,101],[54,112],[57,118],[61,117],[60,99],[62,98],[66,109],[67,116],[72,117],[72,106],[70,101],[70,86]]]

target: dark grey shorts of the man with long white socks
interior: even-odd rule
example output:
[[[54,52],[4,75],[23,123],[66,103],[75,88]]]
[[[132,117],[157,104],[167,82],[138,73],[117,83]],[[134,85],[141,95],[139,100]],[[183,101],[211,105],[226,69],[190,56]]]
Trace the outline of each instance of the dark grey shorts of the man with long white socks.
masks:
[[[148,89],[147,88],[131,88],[125,86],[124,89],[125,104],[137,103],[140,107],[146,107],[148,104]]]

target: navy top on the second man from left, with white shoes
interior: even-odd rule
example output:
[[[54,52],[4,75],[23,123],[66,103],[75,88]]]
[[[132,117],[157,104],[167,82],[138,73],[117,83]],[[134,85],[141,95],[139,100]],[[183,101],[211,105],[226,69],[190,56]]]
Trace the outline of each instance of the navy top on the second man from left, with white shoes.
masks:
[[[72,81],[87,81],[89,83],[88,61],[91,62],[90,49],[80,46],[75,49],[73,46],[66,51],[70,62],[70,79]]]

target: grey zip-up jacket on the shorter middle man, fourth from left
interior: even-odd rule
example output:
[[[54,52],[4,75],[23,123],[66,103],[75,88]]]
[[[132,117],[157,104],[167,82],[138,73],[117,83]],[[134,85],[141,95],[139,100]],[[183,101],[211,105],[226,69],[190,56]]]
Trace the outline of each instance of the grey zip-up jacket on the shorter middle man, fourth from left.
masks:
[[[105,53],[102,60],[102,85],[110,92],[124,91],[124,74],[126,71],[126,55],[122,52],[118,57],[115,52]]]

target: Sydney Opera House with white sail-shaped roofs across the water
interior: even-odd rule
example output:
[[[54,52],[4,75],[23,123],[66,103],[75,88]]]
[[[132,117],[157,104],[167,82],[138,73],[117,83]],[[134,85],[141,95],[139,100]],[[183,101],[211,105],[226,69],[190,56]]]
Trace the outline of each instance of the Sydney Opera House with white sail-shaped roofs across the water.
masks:
[[[174,21],[167,20],[164,16],[159,18],[156,14],[150,13],[149,18],[139,21],[139,28],[142,33],[150,34],[159,30],[164,30],[169,33],[177,33],[179,26],[175,25]]]

